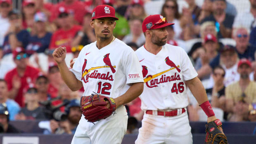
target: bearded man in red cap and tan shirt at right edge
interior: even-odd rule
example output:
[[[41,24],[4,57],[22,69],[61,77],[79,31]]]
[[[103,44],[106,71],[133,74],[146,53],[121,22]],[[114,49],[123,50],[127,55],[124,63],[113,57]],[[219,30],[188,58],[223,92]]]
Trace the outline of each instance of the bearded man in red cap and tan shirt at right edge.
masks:
[[[237,71],[240,74],[239,81],[228,85],[225,90],[226,107],[230,113],[235,113],[232,108],[240,101],[241,97],[247,104],[251,104],[256,100],[256,83],[250,79],[252,72],[251,62],[248,59],[241,59],[237,67]]]

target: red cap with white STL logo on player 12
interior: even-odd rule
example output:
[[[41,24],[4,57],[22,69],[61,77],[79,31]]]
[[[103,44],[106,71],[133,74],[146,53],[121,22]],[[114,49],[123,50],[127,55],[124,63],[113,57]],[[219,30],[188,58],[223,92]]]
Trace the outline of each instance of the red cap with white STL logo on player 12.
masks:
[[[114,19],[118,20],[115,16],[115,9],[109,5],[98,5],[92,10],[92,20],[99,19],[103,17],[113,17]]]

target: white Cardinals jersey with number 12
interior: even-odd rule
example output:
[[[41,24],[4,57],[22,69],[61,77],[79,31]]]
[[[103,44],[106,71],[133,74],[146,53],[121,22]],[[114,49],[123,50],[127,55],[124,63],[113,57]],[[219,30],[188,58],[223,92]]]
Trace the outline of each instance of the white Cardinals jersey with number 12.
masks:
[[[117,38],[100,50],[96,42],[83,47],[70,71],[82,81],[83,96],[96,92],[116,98],[129,89],[128,83],[143,82],[135,52]]]

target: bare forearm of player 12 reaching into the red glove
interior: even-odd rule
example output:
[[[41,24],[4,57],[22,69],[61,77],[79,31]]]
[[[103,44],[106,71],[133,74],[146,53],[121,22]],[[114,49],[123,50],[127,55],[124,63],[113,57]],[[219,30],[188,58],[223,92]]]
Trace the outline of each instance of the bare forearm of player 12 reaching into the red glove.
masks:
[[[115,98],[116,107],[131,102],[143,92],[144,83],[133,83],[132,86],[120,97]]]

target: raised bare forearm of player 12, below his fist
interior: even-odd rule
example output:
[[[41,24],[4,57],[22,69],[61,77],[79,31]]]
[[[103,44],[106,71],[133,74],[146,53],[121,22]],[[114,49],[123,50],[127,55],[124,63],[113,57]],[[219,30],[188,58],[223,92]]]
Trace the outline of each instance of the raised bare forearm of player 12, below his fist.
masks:
[[[65,62],[59,63],[58,67],[62,79],[72,91],[81,89],[83,86],[82,82],[76,79],[76,76],[71,71],[69,71],[69,68],[66,66]]]

